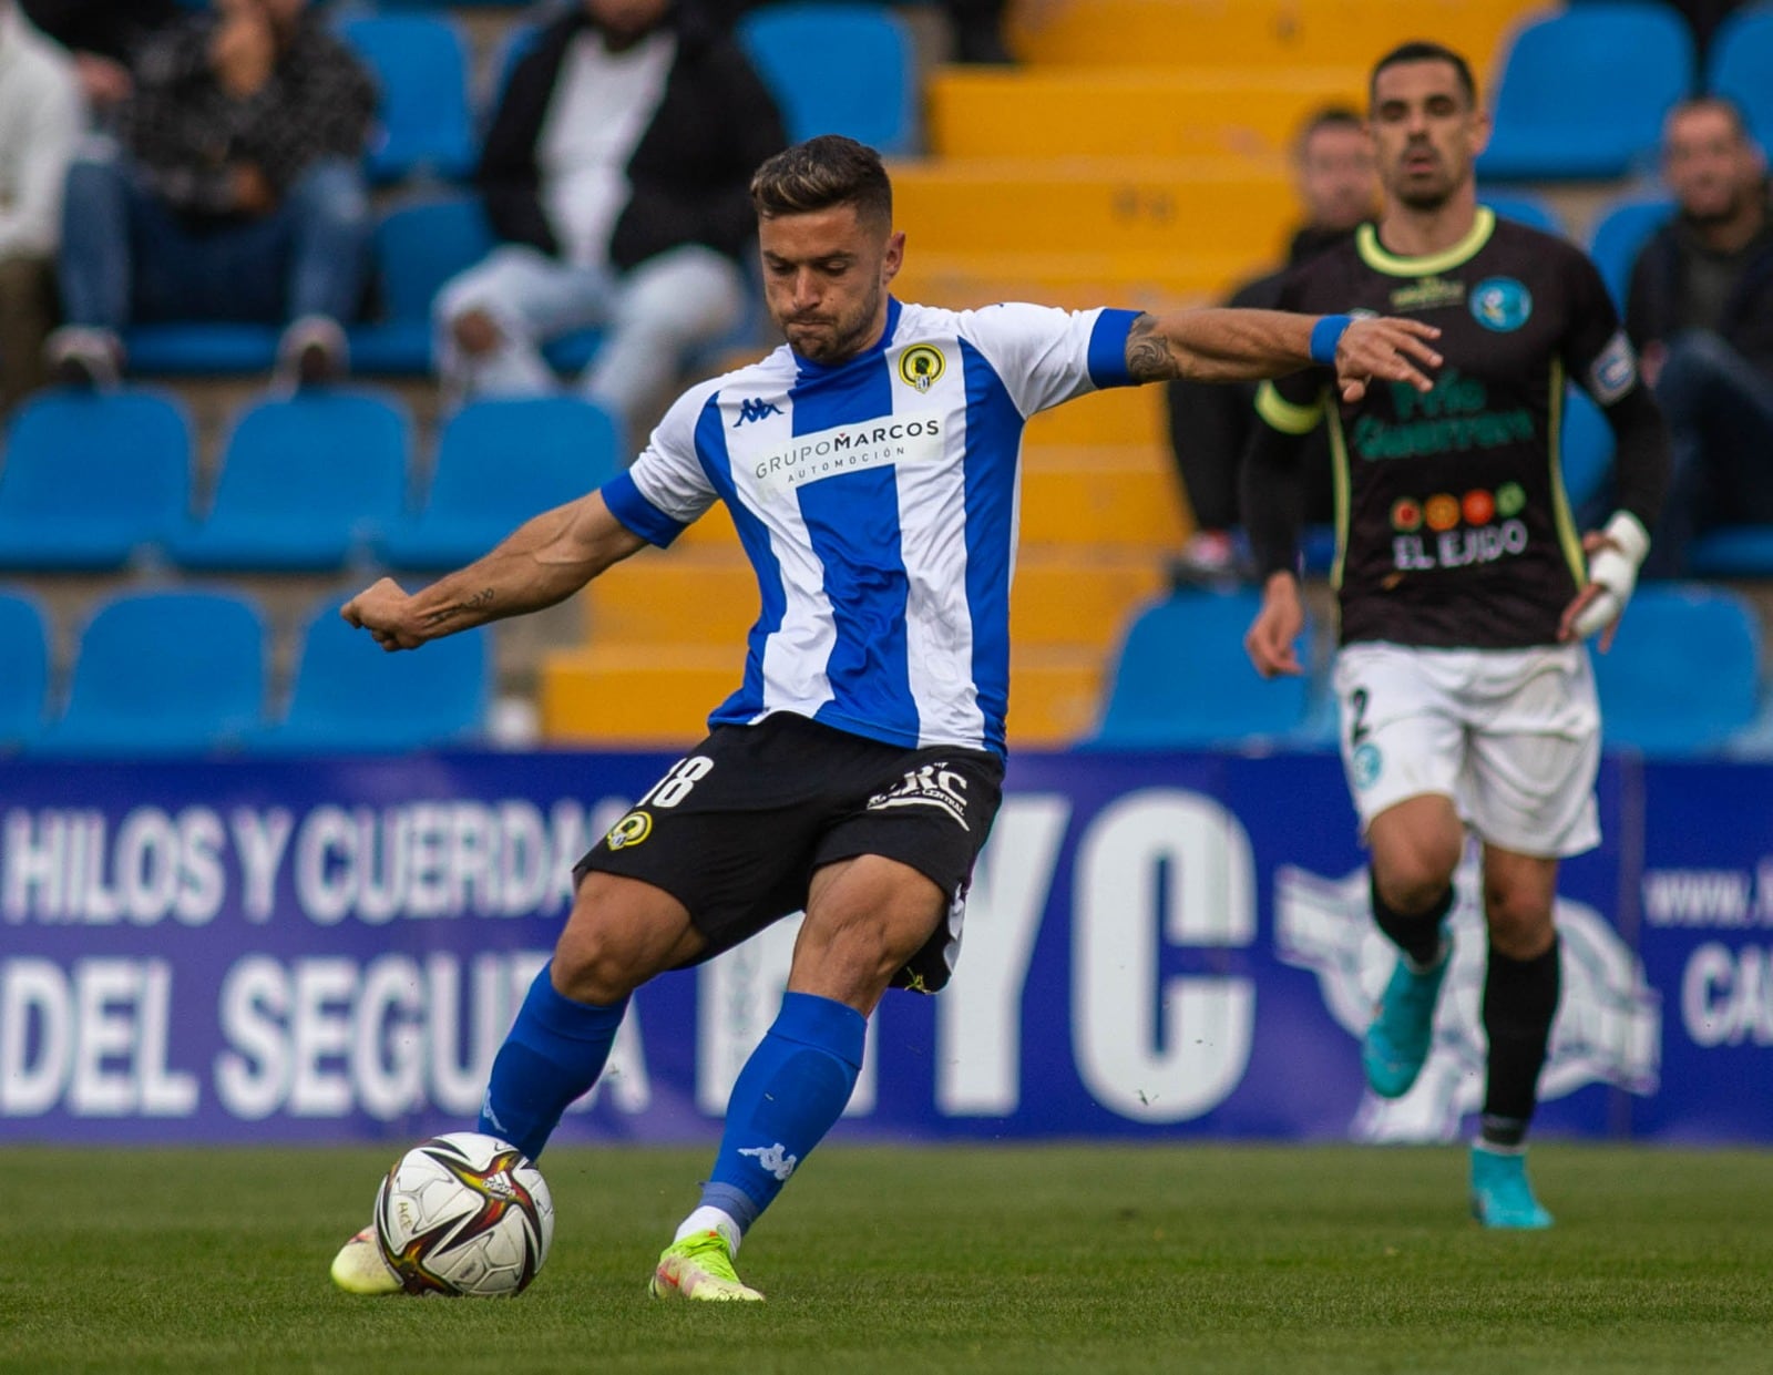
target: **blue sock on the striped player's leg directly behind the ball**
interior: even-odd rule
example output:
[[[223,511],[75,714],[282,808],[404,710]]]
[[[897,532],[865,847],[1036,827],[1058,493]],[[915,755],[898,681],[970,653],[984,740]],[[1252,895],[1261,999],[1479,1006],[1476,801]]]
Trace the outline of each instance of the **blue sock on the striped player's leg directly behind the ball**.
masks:
[[[555,992],[550,966],[535,975],[518,1021],[498,1047],[477,1130],[509,1141],[532,1161],[560,1115],[598,1083],[628,1012],[628,999],[596,1006]]]

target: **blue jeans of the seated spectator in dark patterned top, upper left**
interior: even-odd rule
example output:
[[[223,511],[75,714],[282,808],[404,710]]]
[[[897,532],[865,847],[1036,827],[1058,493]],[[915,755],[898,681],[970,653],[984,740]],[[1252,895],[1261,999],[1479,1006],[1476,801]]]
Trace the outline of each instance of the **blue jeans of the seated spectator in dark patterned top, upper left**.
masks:
[[[126,152],[76,161],[62,211],[62,307],[71,324],[349,321],[363,292],[369,195],[355,161],[314,163],[269,214],[176,214]]]

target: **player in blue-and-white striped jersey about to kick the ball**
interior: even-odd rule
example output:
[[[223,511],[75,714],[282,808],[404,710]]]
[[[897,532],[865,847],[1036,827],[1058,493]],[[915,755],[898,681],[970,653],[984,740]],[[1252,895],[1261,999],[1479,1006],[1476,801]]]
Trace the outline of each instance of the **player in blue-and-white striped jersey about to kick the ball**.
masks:
[[[580,861],[479,1123],[535,1159],[637,987],[805,911],[780,1015],[652,1276],[654,1295],[716,1301],[762,1297],[732,1260],[849,1100],[876,1003],[890,985],[934,992],[954,966],[1004,778],[1025,420],[1101,386],[1312,361],[1349,397],[1427,390],[1440,361],[1433,326],[1392,319],[904,305],[888,294],[904,253],[892,184],[849,138],[777,154],[752,198],[787,344],[684,393],[601,491],[415,595],[383,579],[344,608],[385,649],[417,649],[550,606],[715,501],[730,510],[762,608],[743,680]],[[333,1278],[399,1288],[369,1231]]]

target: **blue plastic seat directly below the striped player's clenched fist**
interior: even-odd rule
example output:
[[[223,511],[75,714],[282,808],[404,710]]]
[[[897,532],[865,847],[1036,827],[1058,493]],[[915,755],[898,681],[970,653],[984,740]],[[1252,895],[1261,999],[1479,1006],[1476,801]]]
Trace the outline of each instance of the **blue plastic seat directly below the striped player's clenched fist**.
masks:
[[[488,633],[465,631],[388,654],[328,599],[309,617],[284,719],[252,741],[264,753],[404,753],[473,744],[491,702]]]

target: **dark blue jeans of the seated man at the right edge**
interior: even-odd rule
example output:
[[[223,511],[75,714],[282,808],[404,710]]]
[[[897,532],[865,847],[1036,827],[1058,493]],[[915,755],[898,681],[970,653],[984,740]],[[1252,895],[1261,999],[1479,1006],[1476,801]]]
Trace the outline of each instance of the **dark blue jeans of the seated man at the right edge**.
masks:
[[[1668,340],[1656,400],[1674,473],[1645,576],[1675,578],[1700,530],[1773,524],[1773,376],[1718,335],[1688,330]]]

